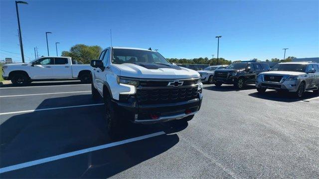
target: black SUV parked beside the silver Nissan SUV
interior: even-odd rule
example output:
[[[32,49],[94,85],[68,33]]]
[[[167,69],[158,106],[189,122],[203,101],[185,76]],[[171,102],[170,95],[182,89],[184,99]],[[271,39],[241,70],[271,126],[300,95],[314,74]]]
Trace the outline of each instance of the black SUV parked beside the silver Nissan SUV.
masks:
[[[270,67],[267,63],[232,63],[225,69],[215,70],[215,85],[233,84],[236,88],[241,89],[246,84],[255,84],[257,75],[269,70]]]

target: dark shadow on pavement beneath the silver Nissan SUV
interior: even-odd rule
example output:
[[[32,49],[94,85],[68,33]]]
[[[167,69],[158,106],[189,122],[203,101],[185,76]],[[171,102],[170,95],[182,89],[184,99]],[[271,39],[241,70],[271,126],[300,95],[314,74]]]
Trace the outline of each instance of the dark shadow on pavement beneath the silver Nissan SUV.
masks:
[[[296,102],[296,101],[305,101],[309,102],[308,99],[318,97],[318,94],[313,93],[312,91],[306,91],[304,93],[304,96],[302,98],[298,98],[294,95],[294,93],[285,93],[280,92],[276,90],[266,91],[265,93],[251,93],[249,96],[260,98],[260,99],[266,99],[266,100],[272,100],[272,101],[280,101],[280,102]]]

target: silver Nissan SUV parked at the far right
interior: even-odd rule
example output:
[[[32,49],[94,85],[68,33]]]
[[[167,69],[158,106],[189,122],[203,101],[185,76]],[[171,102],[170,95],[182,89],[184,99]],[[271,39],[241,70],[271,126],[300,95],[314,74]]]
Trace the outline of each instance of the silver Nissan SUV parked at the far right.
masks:
[[[288,62],[275,65],[270,71],[260,73],[257,91],[266,89],[295,92],[302,97],[305,91],[319,93],[319,64],[313,62]]]

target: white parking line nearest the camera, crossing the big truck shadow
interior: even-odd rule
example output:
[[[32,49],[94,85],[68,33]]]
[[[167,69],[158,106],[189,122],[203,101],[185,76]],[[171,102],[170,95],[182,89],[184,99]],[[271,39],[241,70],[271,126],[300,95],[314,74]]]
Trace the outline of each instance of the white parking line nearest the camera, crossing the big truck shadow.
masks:
[[[155,137],[155,136],[160,136],[160,135],[163,135],[163,134],[165,134],[165,132],[161,131],[161,132],[157,132],[157,133],[153,133],[153,134],[148,134],[148,135],[145,135],[145,136],[140,136],[140,137],[136,137],[136,138],[126,139],[126,140],[123,140],[123,141],[118,141],[118,142],[114,142],[114,143],[110,143],[110,144],[105,144],[105,145],[101,145],[101,146],[91,147],[91,148],[88,148],[88,149],[82,149],[82,150],[79,150],[79,151],[69,152],[69,153],[65,153],[65,154],[61,154],[61,155],[57,155],[57,156],[53,156],[53,157],[47,157],[47,158],[44,158],[44,159],[39,159],[39,160],[31,161],[31,162],[26,162],[26,163],[14,165],[14,166],[4,167],[4,168],[0,169],[0,174],[2,174],[4,172],[10,172],[10,171],[14,171],[14,170],[18,170],[18,169],[22,169],[22,168],[26,168],[26,167],[31,167],[31,166],[35,166],[35,165],[39,165],[39,164],[43,164],[43,163],[47,163],[47,162],[52,162],[52,161],[56,161],[56,160],[59,160],[59,159],[64,159],[64,158],[80,155],[80,154],[85,154],[85,153],[88,153],[88,152],[93,152],[93,151],[97,151],[97,150],[101,150],[101,149],[107,149],[107,148],[110,148],[110,147],[119,146],[119,145],[122,145],[122,144],[127,144],[127,143],[131,143],[131,142],[135,142],[135,141],[140,141],[140,140],[143,140],[143,139],[147,139],[147,138],[151,138],[151,137]]]

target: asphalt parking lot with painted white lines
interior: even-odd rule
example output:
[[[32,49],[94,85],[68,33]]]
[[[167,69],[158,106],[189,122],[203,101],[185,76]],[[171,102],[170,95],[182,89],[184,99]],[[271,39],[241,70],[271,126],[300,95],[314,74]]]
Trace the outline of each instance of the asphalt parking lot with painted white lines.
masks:
[[[90,90],[78,81],[0,88],[0,178],[319,178],[312,92],[204,85],[188,124],[132,124],[114,140]]]

